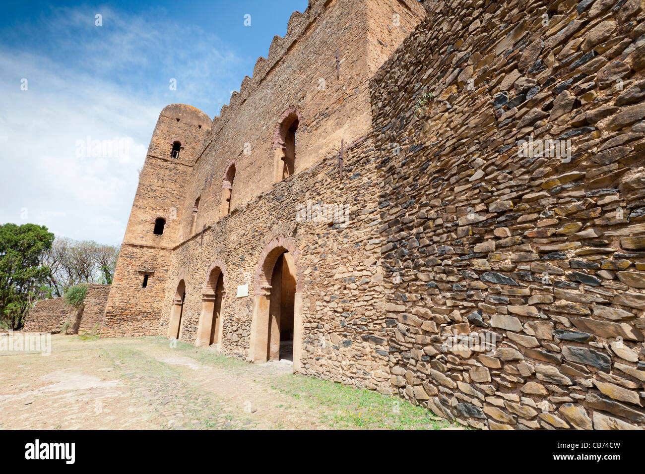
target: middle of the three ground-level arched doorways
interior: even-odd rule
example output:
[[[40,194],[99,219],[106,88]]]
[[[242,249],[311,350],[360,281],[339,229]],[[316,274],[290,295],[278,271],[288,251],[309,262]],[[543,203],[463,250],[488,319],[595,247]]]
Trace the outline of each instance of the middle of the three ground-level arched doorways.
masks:
[[[213,264],[206,272],[206,283],[202,295],[202,308],[199,315],[196,346],[219,346],[222,338],[224,307],[224,271],[222,264]]]

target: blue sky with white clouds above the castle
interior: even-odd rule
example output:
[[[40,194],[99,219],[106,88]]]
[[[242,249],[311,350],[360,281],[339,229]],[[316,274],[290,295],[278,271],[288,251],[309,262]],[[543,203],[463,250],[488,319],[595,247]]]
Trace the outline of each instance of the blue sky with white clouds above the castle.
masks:
[[[3,6],[0,222],[117,244],[161,109],[218,115],[307,0]]]

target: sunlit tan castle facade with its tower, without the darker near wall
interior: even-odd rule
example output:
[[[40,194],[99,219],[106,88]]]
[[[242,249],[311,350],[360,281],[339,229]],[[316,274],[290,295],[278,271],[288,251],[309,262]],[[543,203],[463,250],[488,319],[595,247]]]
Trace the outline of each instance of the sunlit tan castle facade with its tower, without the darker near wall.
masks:
[[[295,370],[389,393],[369,81],[425,14],[408,0],[312,1],[292,15],[286,37],[273,39],[268,59],[258,59],[253,77],[212,123],[179,130],[185,116],[177,111],[198,112],[181,104],[164,109],[103,335],[179,331],[183,341],[208,343],[202,320],[209,302],[212,312],[209,277],[216,270],[224,294],[212,340],[224,353],[262,360],[253,352],[262,346],[253,339],[261,332],[254,315],[268,306],[271,267],[288,250],[296,280]],[[293,121],[295,169],[282,179],[277,163]],[[181,150],[185,166],[174,166],[172,144],[195,144],[199,133],[201,148]],[[339,219],[319,218],[317,206],[325,204]],[[157,217],[166,219],[163,235],[153,234]],[[248,297],[236,297],[244,284]]]

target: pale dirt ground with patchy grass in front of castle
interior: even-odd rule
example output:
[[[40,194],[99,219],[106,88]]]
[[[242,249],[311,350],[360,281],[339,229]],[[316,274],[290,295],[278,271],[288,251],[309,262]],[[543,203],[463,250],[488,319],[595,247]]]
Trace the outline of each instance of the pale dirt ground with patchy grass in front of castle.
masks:
[[[0,429],[454,426],[404,400],[248,364],[161,337],[53,335],[50,355],[0,351]]]

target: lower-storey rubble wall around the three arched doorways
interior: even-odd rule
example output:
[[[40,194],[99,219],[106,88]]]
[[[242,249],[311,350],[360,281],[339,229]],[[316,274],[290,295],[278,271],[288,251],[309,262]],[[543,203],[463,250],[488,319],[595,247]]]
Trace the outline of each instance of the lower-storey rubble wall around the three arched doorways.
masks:
[[[172,291],[166,292],[161,333],[168,330],[174,288],[184,279],[180,339],[195,343],[208,270],[217,262],[226,289],[219,348],[246,359],[261,253],[275,239],[292,239],[299,250],[303,293],[301,372],[389,391],[372,152],[371,141],[362,139],[344,150],[342,181],[338,154],[330,155],[178,248],[170,268],[177,277],[168,284]],[[317,218],[316,206],[324,204],[342,210],[342,221],[334,222],[335,214],[330,222]],[[236,297],[243,284],[249,285],[249,296]]]

